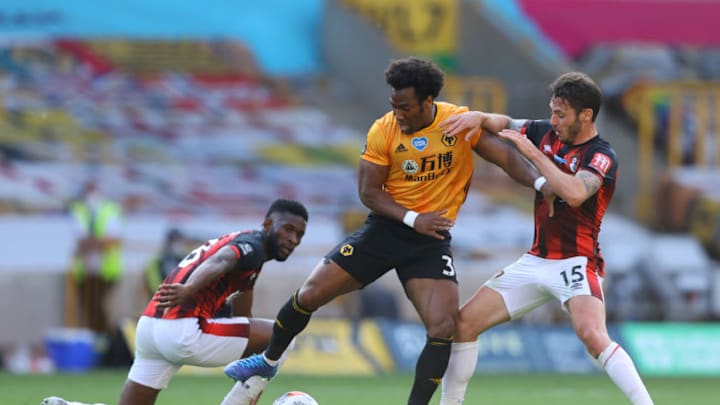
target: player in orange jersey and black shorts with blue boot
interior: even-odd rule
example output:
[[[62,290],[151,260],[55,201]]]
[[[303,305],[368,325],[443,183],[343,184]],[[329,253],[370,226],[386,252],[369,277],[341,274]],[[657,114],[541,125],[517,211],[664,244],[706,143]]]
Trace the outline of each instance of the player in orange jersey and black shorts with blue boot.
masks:
[[[364,226],[331,250],[280,309],[267,350],[230,363],[236,381],[272,378],[291,340],[312,313],[395,269],[427,330],[408,404],[427,404],[450,356],[458,318],[458,285],[450,229],[465,201],[473,153],[531,186],[539,176],[497,135],[446,136],[439,124],[465,111],[437,101],[443,72],[420,58],[395,60],[385,71],[392,110],[376,120],[360,157],[358,189],[370,214]]]

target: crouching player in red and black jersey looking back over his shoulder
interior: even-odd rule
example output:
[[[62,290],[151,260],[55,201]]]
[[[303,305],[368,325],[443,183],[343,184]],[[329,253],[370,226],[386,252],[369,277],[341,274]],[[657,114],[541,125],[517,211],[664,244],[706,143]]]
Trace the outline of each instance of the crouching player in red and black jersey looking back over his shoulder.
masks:
[[[307,220],[299,202],[276,200],[261,229],[230,233],[191,251],[138,321],[135,360],[119,404],[154,404],[183,365],[217,367],[264,350],[273,321],[251,317],[253,287],[265,262],[285,261],[300,244]],[[213,318],[226,301],[232,316]],[[235,389],[223,403],[248,403],[231,398]]]

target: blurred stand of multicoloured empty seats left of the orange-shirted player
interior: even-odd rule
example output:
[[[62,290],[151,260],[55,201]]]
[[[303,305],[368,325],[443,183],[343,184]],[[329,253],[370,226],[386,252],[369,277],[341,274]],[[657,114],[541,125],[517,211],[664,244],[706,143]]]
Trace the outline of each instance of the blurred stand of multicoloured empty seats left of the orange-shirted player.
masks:
[[[4,209],[62,210],[97,176],[130,213],[232,215],[277,196],[334,213],[354,196],[345,179],[362,135],[276,91],[244,51],[67,39],[5,49]]]

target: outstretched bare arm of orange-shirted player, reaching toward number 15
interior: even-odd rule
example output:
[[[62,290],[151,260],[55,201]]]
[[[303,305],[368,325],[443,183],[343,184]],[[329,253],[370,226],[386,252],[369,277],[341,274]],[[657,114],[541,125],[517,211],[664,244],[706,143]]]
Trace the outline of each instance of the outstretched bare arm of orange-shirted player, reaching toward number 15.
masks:
[[[475,153],[495,164],[518,183],[532,187],[540,176],[537,169],[511,143],[485,131],[475,145]]]

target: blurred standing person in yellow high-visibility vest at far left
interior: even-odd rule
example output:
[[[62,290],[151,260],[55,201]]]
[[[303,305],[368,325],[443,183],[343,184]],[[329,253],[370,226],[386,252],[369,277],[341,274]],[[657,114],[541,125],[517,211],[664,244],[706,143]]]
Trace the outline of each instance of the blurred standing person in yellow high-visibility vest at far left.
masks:
[[[77,244],[71,269],[81,305],[81,326],[110,332],[104,301],[122,276],[121,206],[105,198],[95,182],[85,184],[70,205]]]

